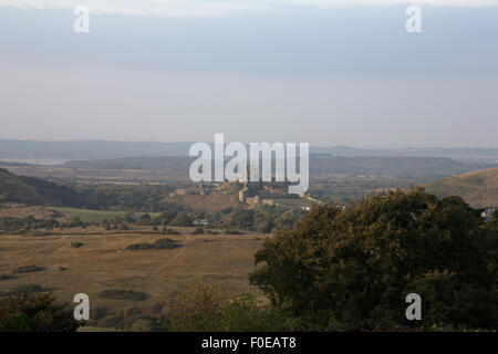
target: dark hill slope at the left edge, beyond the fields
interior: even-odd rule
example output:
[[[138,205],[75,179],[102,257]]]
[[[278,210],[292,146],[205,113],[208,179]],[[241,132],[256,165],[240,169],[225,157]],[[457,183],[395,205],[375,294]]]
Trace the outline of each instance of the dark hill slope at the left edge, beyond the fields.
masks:
[[[83,205],[77,194],[69,187],[40,178],[15,176],[7,169],[0,169],[0,202],[60,207]]]

